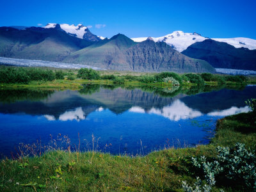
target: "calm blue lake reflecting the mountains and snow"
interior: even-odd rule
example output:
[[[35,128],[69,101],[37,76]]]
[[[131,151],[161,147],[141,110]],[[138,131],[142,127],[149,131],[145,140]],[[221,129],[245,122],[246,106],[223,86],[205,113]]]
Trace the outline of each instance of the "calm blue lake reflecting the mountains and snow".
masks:
[[[249,110],[244,100],[256,97],[256,86],[163,95],[99,85],[80,91],[0,90],[0,154],[17,154],[20,143],[47,145],[59,133],[73,147],[79,133],[83,150],[92,148],[93,134],[97,150],[111,154],[206,144],[218,118]]]

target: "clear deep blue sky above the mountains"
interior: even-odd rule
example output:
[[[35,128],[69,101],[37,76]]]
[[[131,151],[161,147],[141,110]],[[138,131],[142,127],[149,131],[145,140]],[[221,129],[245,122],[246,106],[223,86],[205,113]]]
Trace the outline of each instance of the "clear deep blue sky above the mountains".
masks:
[[[130,38],[163,36],[180,30],[210,38],[256,39],[256,0],[1,0],[0,26],[45,26],[48,22],[82,23],[105,37],[116,33]]]

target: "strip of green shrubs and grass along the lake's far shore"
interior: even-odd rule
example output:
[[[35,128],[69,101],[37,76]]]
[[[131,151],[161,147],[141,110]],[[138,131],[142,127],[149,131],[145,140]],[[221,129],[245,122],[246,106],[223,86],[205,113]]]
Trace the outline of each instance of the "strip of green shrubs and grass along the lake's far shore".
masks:
[[[168,78],[173,78],[168,81]],[[167,79],[166,79],[167,78]],[[81,81],[83,79],[84,81]],[[63,81],[58,81],[63,80]],[[244,76],[225,76],[218,74],[176,74],[174,72],[161,73],[138,73],[138,72],[109,72],[96,71],[88,68],[79,70],[67,69],[49,69],[49,68],[34,68],[34,67],[0,67],[0,83],[1,86],[24,86],[30,84],[31,87],[63,87],[65,80],[68,80],[72,86],[66,87],[81,88],[81,84],[92,81],[100,84],[147,84],[149,86],[164,86],[172,87],[179,85],[182,87],[200,86],[241,86],[248,83],[256,83],[255,77]],[[173,84],[174,83],[174,84]],[[23,85],[22,85],[23,84]],[[51,86],[50,86],[51,84]],[[30,86],[24,86],[30,87]]]

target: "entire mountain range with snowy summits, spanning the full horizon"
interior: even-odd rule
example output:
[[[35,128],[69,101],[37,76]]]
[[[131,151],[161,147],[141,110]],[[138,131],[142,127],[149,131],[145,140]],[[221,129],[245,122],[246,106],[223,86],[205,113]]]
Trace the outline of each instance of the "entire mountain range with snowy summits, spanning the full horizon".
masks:
[[[1,57],[77,63],[110,70],[215,72],[214,67],[255,70],[256,54],[250,49],[256,49],[256,40],[213,40],[182,31],[159,38],[131,39],[118,34],[108,39],[93,35],[82,24],[0,28]]]

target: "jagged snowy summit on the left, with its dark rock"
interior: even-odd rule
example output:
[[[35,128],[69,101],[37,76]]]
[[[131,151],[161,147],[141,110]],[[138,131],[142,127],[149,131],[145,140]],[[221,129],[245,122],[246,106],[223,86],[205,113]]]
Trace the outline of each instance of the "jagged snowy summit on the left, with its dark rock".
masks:
[[[98,42],[101,38],[97,35],[93,35],[91,31],[82,24],[78,24],[75,26],[74,24],[56,24],[56,23],[49,23],[45,27],[45,29],[55,28],[62,31],[65,31],[68,35],[76,36],[77,38],[82,38],[84,40]]]

